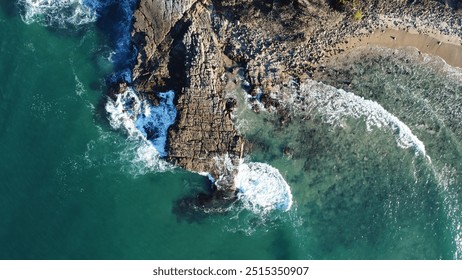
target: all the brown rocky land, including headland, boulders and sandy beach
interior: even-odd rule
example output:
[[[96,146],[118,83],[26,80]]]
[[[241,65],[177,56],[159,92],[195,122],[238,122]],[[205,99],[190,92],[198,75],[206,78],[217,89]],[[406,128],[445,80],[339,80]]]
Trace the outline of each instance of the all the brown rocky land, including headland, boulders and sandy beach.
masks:
[[[132,86],[155,104],[174,90],[178,111],[166,159],[210,174],[230,196],[247,145],[234,125],[237,100],[228,74],[242,71],[246,89],[290,120],[288,100],[325,63],[362,38],[386,29],[445,36],[462,43],[454,1],[141,0],[132,40],[138,50]],[[439,38],[439,37],[438,37]],[[356,40],[356,44],[349,41]],[[256,107],[257,108],[257,107]]]

